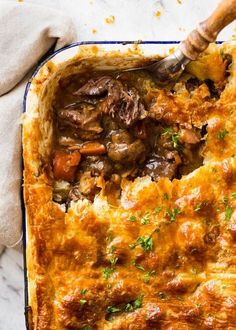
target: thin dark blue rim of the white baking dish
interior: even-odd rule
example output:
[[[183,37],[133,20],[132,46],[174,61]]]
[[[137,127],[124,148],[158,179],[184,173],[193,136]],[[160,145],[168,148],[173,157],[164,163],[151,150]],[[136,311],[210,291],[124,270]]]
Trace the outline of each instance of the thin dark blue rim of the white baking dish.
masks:
[[[52,52],[50,55],[46,56],[45,59],[43,59],[39,65],[37,65],[36,69],[34,70],[31,78],[26,84],[25,87],[25,92],[24,92],[24,97],[23,97],[23,113],[26,112],[26,100],[27,100],[27,95],[30,89],[31,81],[32,78],[36,76],[40,68],[49,60],[51,60],[54,56],[57,54],[61,53],[62,51],[77,47],[77,46],[82,46],[82,45],[114,45],[114,44],[121,44],[121,45],[129,45],[129,44],[149,44],[149,45],[176,45],[179,44],[180,41],[178,40],[165,40],[165,41],[153,41],[153,40],[147,40],[147,41],[125,41],[125,40],[114,40],[114,41],[79,41],[79,42],[74,42],[71,43],[65,47],[62,47],[60,49],[57,49],[56,51]],[[222,44],[223,41],[216,41],[217,44]],[[23,150],[22,150],[23,151]],[[24,171],[24,163],[23,163],[23,152],[22,152],[22,174]],[[29,308],[30,306],[28,305],[29,302],[29,297],[28,297],[28,277],[27,277],[27,263],[26,263],[26,212],[25,212],[25,204],[24,204],[24,193],[23,193],[23,175],[22,175],[22,189],[21,189],[21,209],[22,209],[22,231],[23,231],[23,263],[24,263],[24,302],[25,302],[25,325],[26,329],[29,329]]]

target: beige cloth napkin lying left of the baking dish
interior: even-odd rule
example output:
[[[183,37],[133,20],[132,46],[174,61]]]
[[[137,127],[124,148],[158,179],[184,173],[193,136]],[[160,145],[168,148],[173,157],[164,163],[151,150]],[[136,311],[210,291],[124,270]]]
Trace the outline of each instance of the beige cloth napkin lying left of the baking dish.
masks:
[[[43,6],[0,1],[0,245],[21,240],[21,127],[26,75],[55,44],[75,40],[70,18]]]

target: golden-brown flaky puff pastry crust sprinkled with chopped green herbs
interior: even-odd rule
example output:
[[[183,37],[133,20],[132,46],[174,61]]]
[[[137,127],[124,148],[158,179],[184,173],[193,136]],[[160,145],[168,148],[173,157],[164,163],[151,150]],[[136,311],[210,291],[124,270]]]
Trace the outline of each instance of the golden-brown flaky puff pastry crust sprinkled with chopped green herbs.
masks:
[[[68,213],[52,201],[49,104],[26,112],[30,329],[236,329],[236,46],[222,51],[233,62],[220,99],[162,91],[153,108],[207,123],[204,165],[180,180],[126,181],[117,207],[102,194]]]

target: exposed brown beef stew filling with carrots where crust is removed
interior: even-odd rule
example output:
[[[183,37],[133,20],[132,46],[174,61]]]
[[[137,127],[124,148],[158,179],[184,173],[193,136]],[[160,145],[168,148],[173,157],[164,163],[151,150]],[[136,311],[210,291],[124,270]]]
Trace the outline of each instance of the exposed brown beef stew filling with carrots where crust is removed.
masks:
[[[200,84],[196,78],[186,83],[190,90]],[[124,178],[172,180],[202,165],[206,129],[150,118],[148,88],[157,86],[145,72],[93,72],[60,81],[53,103],[54,201],[92,201],[101,187],[114,199]]]

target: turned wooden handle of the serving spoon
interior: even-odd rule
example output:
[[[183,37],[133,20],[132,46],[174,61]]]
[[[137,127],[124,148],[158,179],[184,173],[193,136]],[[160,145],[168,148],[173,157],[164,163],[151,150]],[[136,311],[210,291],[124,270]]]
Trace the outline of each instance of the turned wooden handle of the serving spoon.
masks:
[[[219,32],[236,19],[236,0],[223,0],[212,15],[199,24],[181,44],[180,50],[190,60],[196,60]]]

